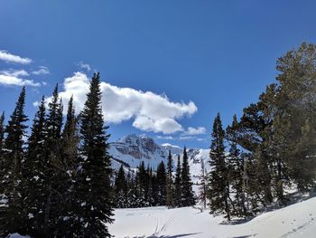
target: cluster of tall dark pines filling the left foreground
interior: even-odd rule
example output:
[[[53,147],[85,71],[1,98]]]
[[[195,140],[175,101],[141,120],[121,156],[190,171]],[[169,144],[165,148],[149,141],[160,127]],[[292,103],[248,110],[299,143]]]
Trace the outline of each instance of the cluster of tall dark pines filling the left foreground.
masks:
[[[95,73],[79,116],[71,98],[64,122],[56,86],[48,105],[42,98],[26,141],[25,88],[6,126],[2,114],[1,237],[110,237],[106,224],[114,221],[112,169],[100,101]]]

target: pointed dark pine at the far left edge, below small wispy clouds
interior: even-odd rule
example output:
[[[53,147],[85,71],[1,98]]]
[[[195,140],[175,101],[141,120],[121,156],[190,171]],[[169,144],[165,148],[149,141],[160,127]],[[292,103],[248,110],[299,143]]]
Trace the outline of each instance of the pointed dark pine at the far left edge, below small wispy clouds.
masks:
[[[24,155],[24,141],[28,119],[24,115],[25,87],[23,87],[13,114],[5,128],[4,165],[1,171],[0,199],[0,236],[9,233],[25,233],[27,215],[23,207],[25,197],[22,168]]]

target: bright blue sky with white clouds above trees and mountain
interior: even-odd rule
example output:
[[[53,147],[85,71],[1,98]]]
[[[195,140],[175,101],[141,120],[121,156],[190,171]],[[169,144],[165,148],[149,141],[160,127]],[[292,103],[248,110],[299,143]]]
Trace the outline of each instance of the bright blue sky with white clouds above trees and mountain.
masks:
[[[228,125],[274,82],[278,57],[315,43],[315,9],[299,0],[0,0],[0,110],[11,114],[26,84],[33,119],[57,82],[80,107],[100,71],[111,140],[136,133],[208,148],[218,111]]]

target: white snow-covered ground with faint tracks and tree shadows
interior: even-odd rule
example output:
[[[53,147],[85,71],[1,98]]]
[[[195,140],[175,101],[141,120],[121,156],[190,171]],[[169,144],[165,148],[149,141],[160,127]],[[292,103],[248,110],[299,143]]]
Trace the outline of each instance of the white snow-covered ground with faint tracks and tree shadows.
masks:
[[[316,237],[316,197],[258,215],[245,224],[191,207],[116,209],[109,227],[116,238]]]

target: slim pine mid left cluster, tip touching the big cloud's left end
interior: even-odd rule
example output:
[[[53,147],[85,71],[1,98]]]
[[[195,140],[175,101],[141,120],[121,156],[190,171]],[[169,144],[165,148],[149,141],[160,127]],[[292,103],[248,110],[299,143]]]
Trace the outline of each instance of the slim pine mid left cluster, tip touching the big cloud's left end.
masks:
[[[51,237],[59,233],[60,205],[65,204],[60,194],[60,174],[63,173],[61,165],[61,127],[62,127],[62,103],[58,93],[58,85],[52,92],[48,103],[46,117],[46,139],[44,144],[44,162],[42,165],[43,187],[42,197],[44,211],[42,219],[42,235]]]

